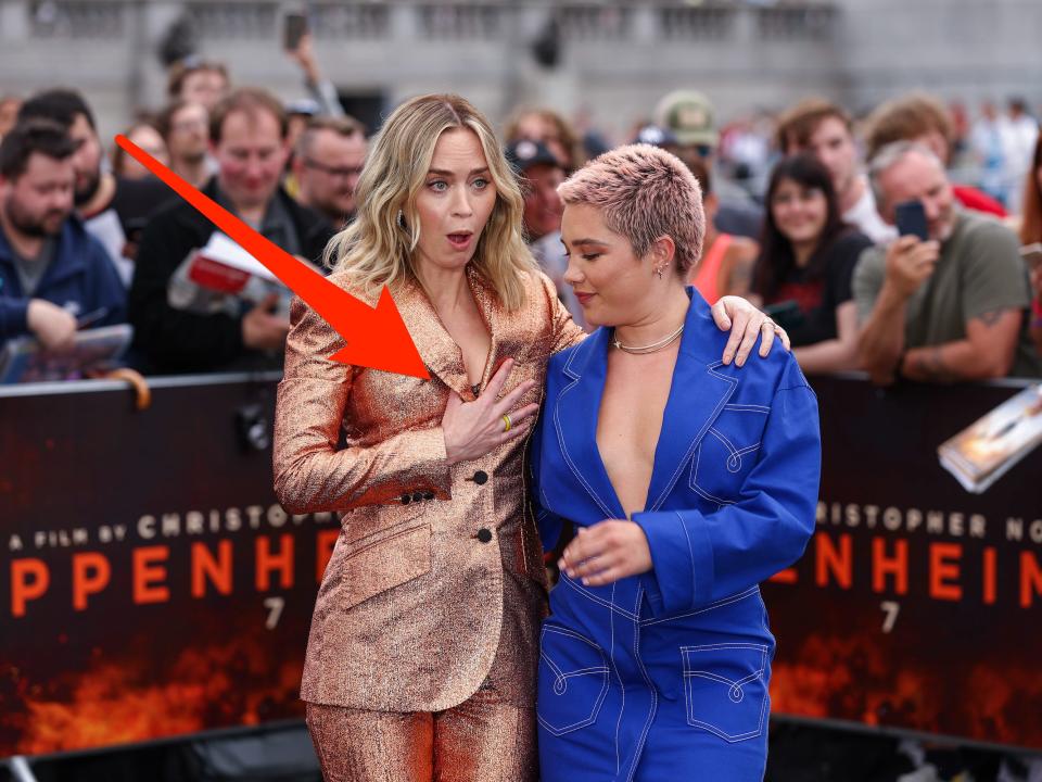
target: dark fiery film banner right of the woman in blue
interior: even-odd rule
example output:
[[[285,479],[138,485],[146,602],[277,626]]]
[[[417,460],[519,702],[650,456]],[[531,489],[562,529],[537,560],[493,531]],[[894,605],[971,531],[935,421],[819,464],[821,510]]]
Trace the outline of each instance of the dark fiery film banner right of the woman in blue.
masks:
[[[1042,449],[982,494],[937,455],[1026,383],[812,384],[817,532],[763,586],[773,710],[1042,748]]]

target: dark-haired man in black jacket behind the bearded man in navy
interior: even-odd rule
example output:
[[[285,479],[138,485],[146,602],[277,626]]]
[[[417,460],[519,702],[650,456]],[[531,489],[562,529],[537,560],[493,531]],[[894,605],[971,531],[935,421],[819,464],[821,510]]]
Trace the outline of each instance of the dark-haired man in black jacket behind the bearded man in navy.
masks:
[[[56,122],[77,144],[73,154],[76,172],[76,211],[84,225],[109,251],[124,286],[134,274],[134,242],[144,222],[170,191],[154,177],[117,178],[102,171],[102,144],[94,115],[82,96],[55,89],[34,96],[18,112],[18,119],[41,117]]]

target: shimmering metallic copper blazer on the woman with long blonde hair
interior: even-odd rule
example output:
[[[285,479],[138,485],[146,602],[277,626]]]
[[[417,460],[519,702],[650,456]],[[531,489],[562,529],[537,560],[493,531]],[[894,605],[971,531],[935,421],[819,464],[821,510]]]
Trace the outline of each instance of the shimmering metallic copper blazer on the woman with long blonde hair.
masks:
[[[347,287],[341,275],[330,279]],[[468,280],[492,336],[482,387],[512,357],[504,393],[533,378],[519,406],[541,401],[547,360],[582,330],[543,275],[533,274],[528,304],[516,313],[473,269]],[[528,438],[446,464],[449,389],[474,399],[462,355],[417,282],[401,283],[393,298],[430,381],[328,361],[343,340],[300,301],[292,312],[276,493],[291,513],[342,513],[301,696],[439,711],[492,680],[506,702],[533,706],[546,585],[528,497]],[[342,432],[346,446],[338,450]]]

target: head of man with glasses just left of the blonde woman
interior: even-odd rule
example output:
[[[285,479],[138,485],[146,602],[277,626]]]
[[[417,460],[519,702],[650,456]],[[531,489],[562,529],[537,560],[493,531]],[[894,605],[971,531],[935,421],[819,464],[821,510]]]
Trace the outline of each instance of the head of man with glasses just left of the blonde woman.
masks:
[[[312,117],[296,141],[297,197],[343,228],[355,216],[355,187],[366,161],[366,134],[352,117]]]

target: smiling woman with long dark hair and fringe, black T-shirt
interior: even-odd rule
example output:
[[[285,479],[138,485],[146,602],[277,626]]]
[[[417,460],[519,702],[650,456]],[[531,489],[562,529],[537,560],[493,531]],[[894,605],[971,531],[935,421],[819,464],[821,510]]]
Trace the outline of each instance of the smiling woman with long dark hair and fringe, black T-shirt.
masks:
[[[828,171],[811,154],[778,162],[766,205],[754,301],[789,332],[804,371],[854,369],[857,311],[851,279],[872,240],[842,222]]]

